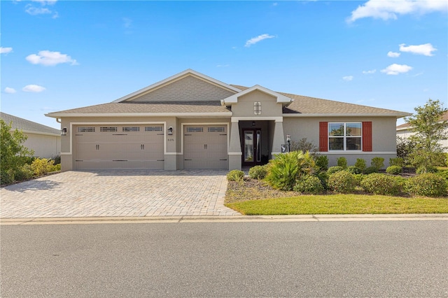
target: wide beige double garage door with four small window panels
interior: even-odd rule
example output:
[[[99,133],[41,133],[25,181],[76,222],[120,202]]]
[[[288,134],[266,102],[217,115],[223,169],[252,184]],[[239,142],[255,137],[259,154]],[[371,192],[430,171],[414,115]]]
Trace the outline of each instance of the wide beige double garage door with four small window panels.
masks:
[[[80,125],[76,169],[163,169],[162,125]]]

